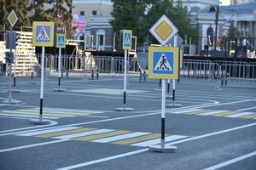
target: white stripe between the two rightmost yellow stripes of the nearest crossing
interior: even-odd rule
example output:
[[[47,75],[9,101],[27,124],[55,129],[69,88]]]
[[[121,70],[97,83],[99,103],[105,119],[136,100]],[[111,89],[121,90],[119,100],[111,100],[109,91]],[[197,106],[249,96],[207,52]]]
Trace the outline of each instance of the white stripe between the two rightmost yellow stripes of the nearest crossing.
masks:
[[[108,143],[108,142],[113,142],[113,141],[117,141],[117,140],[130,139],[130,138],[137,137],[137,136],[143,136],[146,134],[150,134],[150,133],[137,132],[137,133],[121,134],[121,135],[113,136],[113,137],[109,137],[109,138],[91,140],[91,142]]]

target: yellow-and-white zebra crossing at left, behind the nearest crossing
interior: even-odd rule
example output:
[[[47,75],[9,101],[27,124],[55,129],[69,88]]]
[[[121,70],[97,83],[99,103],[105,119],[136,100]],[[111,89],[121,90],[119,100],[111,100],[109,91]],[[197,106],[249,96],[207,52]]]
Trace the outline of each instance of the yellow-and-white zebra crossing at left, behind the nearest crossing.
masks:
[[[103,112],[104,111],[45,108],[44,118],[58,119],[58,118],[73,117],[73,116],[92,116],[92,115],[100,114]],[[0,111],[1,116],[20,116],[20,117],[37,118],[38,114],[39,114],[39,108],[20,109],[20,110],[13,110],[13,111],[6,111],[6,110]]]

